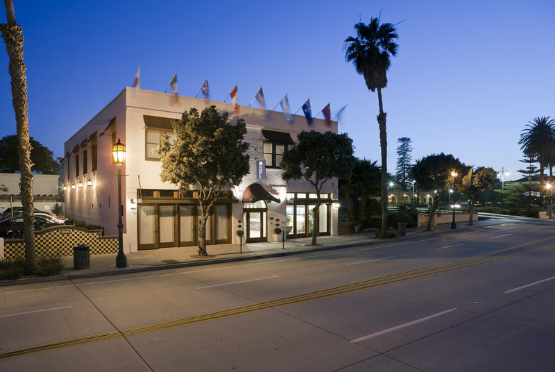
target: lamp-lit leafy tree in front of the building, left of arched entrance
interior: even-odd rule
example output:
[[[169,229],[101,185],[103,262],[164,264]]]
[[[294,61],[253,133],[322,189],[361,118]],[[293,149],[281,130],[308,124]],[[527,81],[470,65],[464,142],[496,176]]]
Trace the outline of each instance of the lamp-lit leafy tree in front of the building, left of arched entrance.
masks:
[[[205,108],[199,115],[196,108],[183,112],[172,122],[176,140],[170,144],[162,136],[157,153],[162,160],[160,178],[178,185],[180,194],[198,187],[200,205],[198,254],[206,252],[206,221],[223,187],[239,185],[248,174],[246,154],[249,144],[243,142],[247,133],[243,119],[228,121],[228,112],[219,114],[216,106]]]

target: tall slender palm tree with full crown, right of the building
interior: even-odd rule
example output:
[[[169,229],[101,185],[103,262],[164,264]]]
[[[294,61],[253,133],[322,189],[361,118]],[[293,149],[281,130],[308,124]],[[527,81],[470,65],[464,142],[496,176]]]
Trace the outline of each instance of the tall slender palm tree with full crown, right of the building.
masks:
[[[355,24],[357,37],[345,39],[345,60],[355,65],[357,72],[364,76],[368,90],[377,90],[379,103],[379,146],[382,149],[382,234],[387,230],[387,134],[386,115],[382,103],[382,88],[387,86],[386,71],[391,65],[390,56],[397,54],[398,35],[393,24],[379,24],[379,18],[370,18],[369,24]]]

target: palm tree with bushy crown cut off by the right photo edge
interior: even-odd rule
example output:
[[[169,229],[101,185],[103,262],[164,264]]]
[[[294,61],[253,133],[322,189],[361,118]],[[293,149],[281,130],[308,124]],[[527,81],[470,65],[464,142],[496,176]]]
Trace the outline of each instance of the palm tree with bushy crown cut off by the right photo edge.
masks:
[[[518,141],[525,155],[535,157],[540,163],[540,185],[543,185],[543,170],[549,167],[549,182],[552,181],[552,165],[555,164],[555,120],[535,117],[520,133]]]

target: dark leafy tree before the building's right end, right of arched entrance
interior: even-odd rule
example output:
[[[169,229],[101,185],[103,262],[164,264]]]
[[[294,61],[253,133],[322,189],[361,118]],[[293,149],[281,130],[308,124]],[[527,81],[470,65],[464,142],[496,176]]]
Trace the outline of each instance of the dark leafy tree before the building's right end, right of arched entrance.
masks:
[[[342,133],[320,133],[303,130],[297,135],[297,143],[283,154],[280,167],[284,170],[284,180],[307,180],[316,193],[314,206],[314,227],[312,245],[316,245],[318,235],[318,209],[322,204],[320,192],[323,185],[336,177],[346,179],[351,176],[355,158],[352,156],[352,140]]]

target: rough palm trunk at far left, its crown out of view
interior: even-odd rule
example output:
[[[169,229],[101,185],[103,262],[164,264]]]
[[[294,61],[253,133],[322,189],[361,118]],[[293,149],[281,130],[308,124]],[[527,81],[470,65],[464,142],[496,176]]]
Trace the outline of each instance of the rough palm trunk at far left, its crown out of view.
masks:
[[[10,57],[8,69],[12,78],[12,103],[15,111],[17,138],[19,146],[19,171],[21,180],[19,188],[22,194],[23,223],[25,233],[25,260],[31,267],[35,265],[35,214],[33,212],[33,174],[31,173],[31,143],[29,141],[29,121],[27,103],[27,78],[23,57],[23,31],[15,21],[12,0],[4,0],[8,24],[0,24],[2,38],[6,43],[6,51]]]

